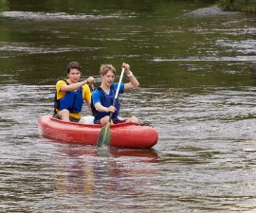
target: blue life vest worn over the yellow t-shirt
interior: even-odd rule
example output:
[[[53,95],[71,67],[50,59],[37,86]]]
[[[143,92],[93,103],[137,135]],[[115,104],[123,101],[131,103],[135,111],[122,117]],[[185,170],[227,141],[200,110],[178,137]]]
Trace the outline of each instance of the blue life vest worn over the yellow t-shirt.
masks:
[[[69,83],[64,80],[67,85]],[[82,87],[80,87],[77,91],[68,91],[65,93],[64,98],[57,99],[57,95],[55,94],[54,107],[58,110],[68,110],[70,113],[80,113],[82,111]]]

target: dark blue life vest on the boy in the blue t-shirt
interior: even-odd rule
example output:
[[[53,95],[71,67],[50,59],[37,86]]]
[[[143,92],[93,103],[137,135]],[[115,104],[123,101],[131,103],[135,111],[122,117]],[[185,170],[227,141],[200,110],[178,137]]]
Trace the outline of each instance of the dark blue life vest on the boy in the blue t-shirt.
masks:
[[[96,90],[99,90],[101,92],[101,105],[104,107],[110,107],[111,105],[113,105],[113,101],[115,99],[116,96],[116,90],[114,88],[113,85],[111,85],[110,90],[112,92],[109,93],[109,95],[107,95],[102,89],[101,87],[97,88]],[[113,114],[112,118],[113,119],[117,119],[118,115],[119,115],[119,108],[120,108],[120,103],[119,103],[119,98],[116,99],[116,112]],[[93,103],[93,99],[91,99],[91,109],[92,109],[92,114],[95,116],[96,120],[101,119],[102,117],[104,117],[105,115],[110,115],[110,113],[106,113],[106,112],[98,112],[95,109],[94,103]]]

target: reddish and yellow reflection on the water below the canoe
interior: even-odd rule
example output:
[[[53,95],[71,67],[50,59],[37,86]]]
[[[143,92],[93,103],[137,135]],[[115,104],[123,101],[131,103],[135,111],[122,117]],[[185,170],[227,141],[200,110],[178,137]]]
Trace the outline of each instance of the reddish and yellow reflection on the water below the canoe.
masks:
[[[97,197],[98,202],[93,202],[96,206],[100,207],[102,200],[110,202],[108,208],[116,208],[115,196],[126,194],[129,197],[137,194],[137,189],[141,186],[138,181],[140,178],[146,181],[147,185],[156,184],[153,176],[159,171],[153,169],[153,165],[158,164],[155,151],[117,149],[98,151],[94,147],[81,145],[56,144],[55,146],[62,156],[56,159],[60,168],[57,177],[60,181],[56,187],[62,196],[71,193],[85,196],[88,200]],[[138,182],[135,182],[134,177]],[[147,193],[139,191],[139,196]]]

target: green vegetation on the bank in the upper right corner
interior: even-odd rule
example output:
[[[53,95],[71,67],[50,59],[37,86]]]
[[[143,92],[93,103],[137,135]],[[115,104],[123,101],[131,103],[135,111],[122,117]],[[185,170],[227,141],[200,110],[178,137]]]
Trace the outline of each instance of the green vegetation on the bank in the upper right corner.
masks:
[[[219,0],[222,9],[256,12],[256,0]]]

